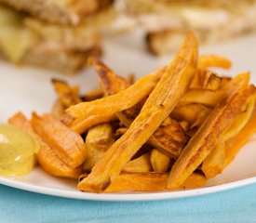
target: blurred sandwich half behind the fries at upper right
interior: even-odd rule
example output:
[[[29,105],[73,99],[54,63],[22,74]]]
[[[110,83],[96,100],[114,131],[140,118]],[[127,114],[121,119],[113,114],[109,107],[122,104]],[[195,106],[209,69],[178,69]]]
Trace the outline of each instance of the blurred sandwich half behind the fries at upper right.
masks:
[[[126,0],[126,10],[145,30],[155,55],[180,46],[192,30],[200,43],[212,43],[256,30],[255,0]]]

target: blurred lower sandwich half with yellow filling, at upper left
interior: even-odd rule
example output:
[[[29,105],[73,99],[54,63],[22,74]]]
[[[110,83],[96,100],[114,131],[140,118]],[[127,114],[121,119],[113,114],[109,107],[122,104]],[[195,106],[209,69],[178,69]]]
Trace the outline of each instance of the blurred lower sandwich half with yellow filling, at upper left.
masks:
[[[0,5],[0,27],[0,58],[18,65],[75,73],[101,54],[101,35],[88,22],[48,23]]]

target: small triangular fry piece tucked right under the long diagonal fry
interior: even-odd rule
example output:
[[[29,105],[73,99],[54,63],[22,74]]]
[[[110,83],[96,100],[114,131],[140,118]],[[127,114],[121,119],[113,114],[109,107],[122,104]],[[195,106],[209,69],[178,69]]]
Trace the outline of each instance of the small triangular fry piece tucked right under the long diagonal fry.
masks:
[[[150,163],[150,152],[147,152],[140,157],[131,160],[126,164],[122,170],[126,173],[149,173],[152,171]]]

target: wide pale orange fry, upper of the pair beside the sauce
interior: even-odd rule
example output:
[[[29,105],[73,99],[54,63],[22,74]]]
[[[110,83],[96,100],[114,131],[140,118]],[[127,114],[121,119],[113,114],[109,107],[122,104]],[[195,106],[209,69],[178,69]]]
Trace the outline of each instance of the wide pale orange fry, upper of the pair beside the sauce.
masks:
[[[34,131],[56,152],[68,166],[75,168],[86,159],[86,147],[80,135],[61,124],[49,114],[32,115]]]

